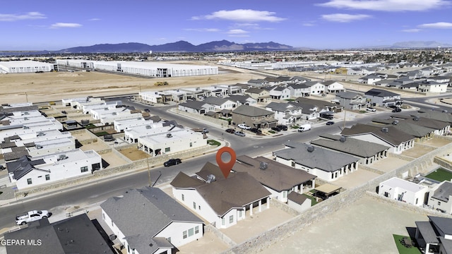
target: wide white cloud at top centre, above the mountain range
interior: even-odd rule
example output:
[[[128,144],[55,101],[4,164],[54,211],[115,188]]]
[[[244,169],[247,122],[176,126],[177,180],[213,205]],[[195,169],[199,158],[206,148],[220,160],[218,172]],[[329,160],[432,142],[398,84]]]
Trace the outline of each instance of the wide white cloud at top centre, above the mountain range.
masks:
[[[206,16],[196,16],[192,17],[192,20],[213,20],[213,19],[222,19],[222,20],[233,20],[237,22],[258,22],[258,21],[267,21],[267,22],[279,22],[285,20],[285,18],[279,18],[275,16],[274,12],[271,11],[255,11],[255,10],[245,10],[245,9],[237,9],[234,11],[215,11],[212,14]]]

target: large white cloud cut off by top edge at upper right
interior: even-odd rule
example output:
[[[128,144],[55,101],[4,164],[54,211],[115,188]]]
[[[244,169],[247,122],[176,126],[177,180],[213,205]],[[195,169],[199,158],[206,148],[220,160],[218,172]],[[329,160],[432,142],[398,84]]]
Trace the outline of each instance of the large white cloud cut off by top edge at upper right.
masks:
[[[446,0],[331,0],[323,7],[370,11],[427,11],[450,5]]]

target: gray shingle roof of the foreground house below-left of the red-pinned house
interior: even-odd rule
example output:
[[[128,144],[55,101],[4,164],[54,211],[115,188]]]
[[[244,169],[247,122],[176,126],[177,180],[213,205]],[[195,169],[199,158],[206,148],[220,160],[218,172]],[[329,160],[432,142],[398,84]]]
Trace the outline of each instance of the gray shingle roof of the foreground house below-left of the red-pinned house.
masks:
[[[138,253],[153,253],[157,248],[165,247],[151,239],[172,222],[202,222],[159,188],[131,189],[122,198],[107,199],[100,207],[136,244],[131,247]]]

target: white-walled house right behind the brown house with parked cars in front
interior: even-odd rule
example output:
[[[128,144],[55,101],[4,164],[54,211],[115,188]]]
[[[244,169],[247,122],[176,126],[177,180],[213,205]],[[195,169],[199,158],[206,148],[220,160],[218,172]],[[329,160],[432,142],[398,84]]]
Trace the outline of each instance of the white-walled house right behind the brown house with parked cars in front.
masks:
[[[275,113],[275,119],[279,124],[290,125],[302,117],[302,108],[294,104],[284,102],[270,102],[266,110]]]

